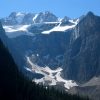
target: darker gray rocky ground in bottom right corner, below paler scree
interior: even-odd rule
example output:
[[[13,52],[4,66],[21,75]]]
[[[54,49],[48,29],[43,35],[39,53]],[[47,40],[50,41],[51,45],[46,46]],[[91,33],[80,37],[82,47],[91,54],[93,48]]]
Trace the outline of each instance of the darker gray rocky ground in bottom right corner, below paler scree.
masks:
[[[100,85],[86,86],[86,87],[73,87],[68,91],[70,94],[78,94],[80,96],[88,96],[91,99],[100,99]]]

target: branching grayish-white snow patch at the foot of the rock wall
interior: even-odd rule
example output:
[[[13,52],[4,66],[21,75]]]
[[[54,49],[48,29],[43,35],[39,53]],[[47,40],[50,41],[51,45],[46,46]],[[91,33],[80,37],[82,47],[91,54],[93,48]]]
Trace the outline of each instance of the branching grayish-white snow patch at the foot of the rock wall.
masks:
[[[63,83],[64,87],[66,89],[70,89],[73,86],[78,86],[75,82],[73,82],[72,80],[65,80],[61,77],[61,73],[62,73],[62,68],[57,68],[55,70],[51,70],[49,67],[40,67],[38,65],[35,65],[31,62],[30,58],[28,57],[28,55],[26,56],[27,58],[27,63],[31,65],[31,68],[27,68],[25,67],[26,70],[31,71],[33,73],[39,73],[44,75],[43,78],[41,79],[33,79],[34,82],[38,83],[42,83],[45,85],[57,85],[59,83]]]

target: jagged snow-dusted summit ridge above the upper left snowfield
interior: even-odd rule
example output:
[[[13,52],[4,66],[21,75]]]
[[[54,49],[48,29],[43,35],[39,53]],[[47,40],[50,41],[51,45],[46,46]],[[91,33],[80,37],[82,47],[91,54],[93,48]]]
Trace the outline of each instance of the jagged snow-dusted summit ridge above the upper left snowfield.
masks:
[[[27,25],[32,23],[56,22],[57,20],[58,17],[49,11],[44,13],[12,12],[8,17],[2,18],[1,22],[3,25]]]

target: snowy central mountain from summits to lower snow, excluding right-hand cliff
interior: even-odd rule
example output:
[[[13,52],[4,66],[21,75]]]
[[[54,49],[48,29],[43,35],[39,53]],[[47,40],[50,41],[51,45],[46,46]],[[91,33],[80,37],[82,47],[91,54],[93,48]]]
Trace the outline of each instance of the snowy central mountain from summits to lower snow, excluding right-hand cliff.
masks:
[[[26,14],[29,16],[26,17]],[[9,24],[4,23],[7,22],[5,18],[1,19],[6,35],[24,59],[21,70],[39,84],[60,84],[65,89],[77,86],[74,81],[62,78],[61,66],[66,46],[70,42],[70,31],[78,19],[74,21],[64,17],[58,20],[58,17],[48,11],[39,13],[37,17],[34,15],[35,18],[31,15],[33,16],[29,13],[11,13],[7,17],[10,18]],[[34,20],[29,23],[30,16]],[[20,19],[20,23],[17,19]],[[13,20],[17,23],[13,24]]]

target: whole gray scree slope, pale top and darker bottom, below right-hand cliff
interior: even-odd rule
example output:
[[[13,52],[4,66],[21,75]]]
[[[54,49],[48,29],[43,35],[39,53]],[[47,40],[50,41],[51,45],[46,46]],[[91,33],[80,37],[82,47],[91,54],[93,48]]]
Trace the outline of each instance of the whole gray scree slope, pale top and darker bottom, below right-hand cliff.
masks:
[[[91,80],[81,86],[73,87],[68,90],[71,94],[88,96],[91,99],[100,99],[100,76],[93,77]]]

